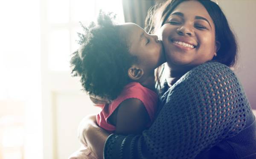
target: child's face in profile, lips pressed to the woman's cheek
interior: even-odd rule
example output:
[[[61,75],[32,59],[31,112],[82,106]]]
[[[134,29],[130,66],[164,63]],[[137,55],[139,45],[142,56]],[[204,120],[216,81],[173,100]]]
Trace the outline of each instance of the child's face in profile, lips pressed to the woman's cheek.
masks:
[[[162,41],[158,40],[156,35],[147,34],[134,23],[125,23],[122,26],[129,37],[130,53],[138,57],[138,65],[144,72],[154,71],[165,62]]]

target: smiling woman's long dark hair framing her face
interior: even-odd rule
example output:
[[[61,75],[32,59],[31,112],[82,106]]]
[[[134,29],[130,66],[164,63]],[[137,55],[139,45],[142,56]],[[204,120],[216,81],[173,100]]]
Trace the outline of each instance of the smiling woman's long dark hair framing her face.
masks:
[[[148,11],[145,21],[145,30],[153,34],[164,25],[172,11],[186,0],[168,0],[166,3],[157,4]],[[198,0],[208,11],[215,25],[215,40],[221,45],[217,56],[212,60],[233,67],[238,59],[238,46],[236,37],[230,29],[227,19],[221,8],[211,0]]]

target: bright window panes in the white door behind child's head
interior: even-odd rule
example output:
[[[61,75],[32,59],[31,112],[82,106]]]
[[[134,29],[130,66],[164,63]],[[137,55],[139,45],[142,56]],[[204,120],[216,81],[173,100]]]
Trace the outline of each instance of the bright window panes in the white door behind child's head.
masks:
[[[114,5],[113,5],[114,4]],[[124,22],[121,0],[47,0],[45,34],[48,68],[50,71],[68,71],[70,54],[79,47],[77,32],[79,21],[95,21],[99,10],[114,12]]]

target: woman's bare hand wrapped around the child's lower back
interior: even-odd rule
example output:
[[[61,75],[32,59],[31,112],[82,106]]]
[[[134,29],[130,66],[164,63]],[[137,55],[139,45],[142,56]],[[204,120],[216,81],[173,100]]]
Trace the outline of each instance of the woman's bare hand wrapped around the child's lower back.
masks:
[[[110,133],[100,128],[96,123],[96,115],[86,116],[79,124],[78,138],[87,145],[98,159],[103,159],[103,150],[106,139]]]

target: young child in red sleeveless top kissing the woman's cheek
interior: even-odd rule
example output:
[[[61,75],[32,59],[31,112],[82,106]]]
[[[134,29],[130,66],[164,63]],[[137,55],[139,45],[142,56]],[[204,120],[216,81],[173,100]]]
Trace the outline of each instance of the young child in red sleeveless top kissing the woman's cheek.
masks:
[[[116,25],[100,13],[98,25],[84,27],[81,48],[73,53],[72,75],[81,77],[84,91],[106,99],[97,105],[97,124],[111,133],[139,134],[157,110],[154,70],[165,62],[157,36],[134,23]],[[86,143],[70,159],[95,159]]]

